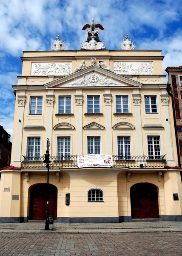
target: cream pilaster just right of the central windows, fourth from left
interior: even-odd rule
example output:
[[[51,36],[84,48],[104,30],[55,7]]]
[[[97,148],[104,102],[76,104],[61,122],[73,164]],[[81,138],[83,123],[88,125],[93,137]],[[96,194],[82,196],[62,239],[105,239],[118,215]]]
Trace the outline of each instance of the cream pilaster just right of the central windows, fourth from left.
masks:
[[[105,141],[106,146],[106,154],[113,154],[112,148],[112,114],[111,114],[111,102],[112,102],[112,94],[111,90],[105,89],[104,96],[104,104],[105,104],[105,137],[107,140]]]

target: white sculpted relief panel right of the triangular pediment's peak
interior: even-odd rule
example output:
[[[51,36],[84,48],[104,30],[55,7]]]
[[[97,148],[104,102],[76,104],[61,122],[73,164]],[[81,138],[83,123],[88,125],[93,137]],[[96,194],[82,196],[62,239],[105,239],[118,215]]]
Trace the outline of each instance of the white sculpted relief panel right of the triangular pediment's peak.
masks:
[[[154,75],[153,61],[114,61],[114,73],[118,75]]]

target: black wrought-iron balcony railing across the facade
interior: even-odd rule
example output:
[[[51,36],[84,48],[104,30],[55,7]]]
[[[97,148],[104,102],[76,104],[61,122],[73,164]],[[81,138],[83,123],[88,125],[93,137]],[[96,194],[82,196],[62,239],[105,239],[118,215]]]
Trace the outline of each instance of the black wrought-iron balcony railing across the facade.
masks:
[[[60,168],[79,168],[78,167],[78,156],[61,156],[61,157],[50,157],[50,169]],[[45,157],[27,157],[23,156],[21,163],[22,169],[37,169],[46,168],[46,164],[43,163]],[[112,166],[110,168],[165,168],[166,160],[164,156],[119,156],[112,155]],[[98,166],[92,166],[98,168]],[[100,166],[99,166],[100,167]],[[85,168],[85,167],[84,167]]]

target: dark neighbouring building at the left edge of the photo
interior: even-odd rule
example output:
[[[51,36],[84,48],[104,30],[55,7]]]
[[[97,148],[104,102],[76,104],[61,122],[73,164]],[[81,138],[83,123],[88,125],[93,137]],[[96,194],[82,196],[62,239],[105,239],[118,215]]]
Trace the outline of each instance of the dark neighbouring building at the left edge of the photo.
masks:
[[[12,146],[10,137],[11,135],[0,125],[0,168],[10,165]]]

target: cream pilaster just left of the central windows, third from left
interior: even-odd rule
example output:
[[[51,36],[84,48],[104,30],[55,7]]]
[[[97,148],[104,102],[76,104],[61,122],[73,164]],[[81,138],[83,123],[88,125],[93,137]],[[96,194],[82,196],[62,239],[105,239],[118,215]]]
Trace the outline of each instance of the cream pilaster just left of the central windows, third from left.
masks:
[[[82,90],[76,90],[76,154],[82,154]]]

